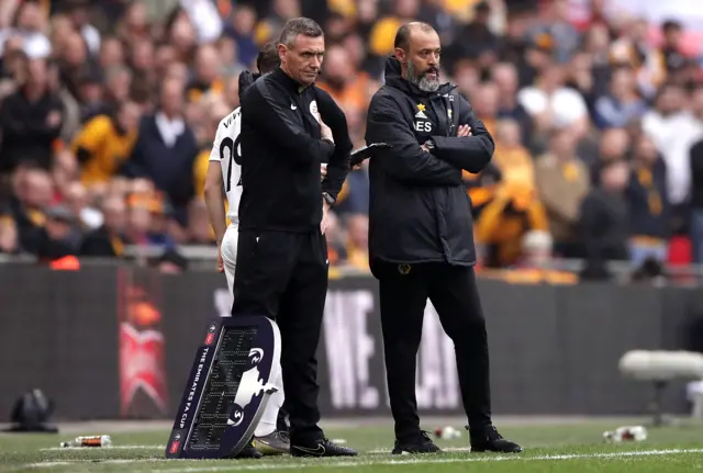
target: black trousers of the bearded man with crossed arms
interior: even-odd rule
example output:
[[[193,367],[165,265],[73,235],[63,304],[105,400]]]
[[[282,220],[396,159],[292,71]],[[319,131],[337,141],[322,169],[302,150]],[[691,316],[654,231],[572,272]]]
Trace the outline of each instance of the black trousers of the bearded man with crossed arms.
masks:
[[[373,262],[379,280],[386,376],[395,438],[420,431],[415,368],[427,299],[454,341],[461,398],[471,430],[491,424],[486,320],[472,267]]]

